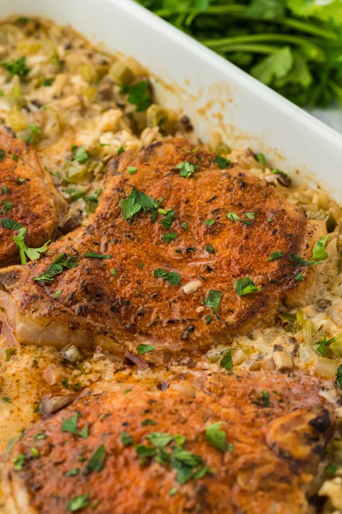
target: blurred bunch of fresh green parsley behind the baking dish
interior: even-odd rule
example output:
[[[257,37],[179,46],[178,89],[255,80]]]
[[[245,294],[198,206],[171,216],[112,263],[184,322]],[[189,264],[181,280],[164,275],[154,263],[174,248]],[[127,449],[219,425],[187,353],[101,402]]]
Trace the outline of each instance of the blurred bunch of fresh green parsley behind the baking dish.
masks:
[[[342,105],[342,0],[137,0],[294,103]]]

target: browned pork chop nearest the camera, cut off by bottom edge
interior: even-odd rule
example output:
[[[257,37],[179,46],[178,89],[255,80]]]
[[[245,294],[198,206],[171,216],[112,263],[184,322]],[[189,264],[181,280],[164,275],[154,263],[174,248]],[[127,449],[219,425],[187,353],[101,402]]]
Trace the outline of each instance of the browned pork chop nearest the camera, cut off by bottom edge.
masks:
[[[334,424],[316,378],[223,372],[187,394],[127,385],[27,430],[4,472],[12,514],[309,512]]]

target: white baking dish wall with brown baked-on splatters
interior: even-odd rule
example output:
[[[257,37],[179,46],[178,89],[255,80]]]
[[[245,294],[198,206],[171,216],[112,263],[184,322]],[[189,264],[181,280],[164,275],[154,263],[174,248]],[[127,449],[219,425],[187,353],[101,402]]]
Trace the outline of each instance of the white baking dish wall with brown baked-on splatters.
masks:
[[[312,172],[342,200],[342,136],[132,0],[0,0],[0,5],[2,17],[46,16],[71,24],[92,42],[132,54],[163,79],[154,80],[158,100],[182,109],[204,141],[219,128],[233,148],[250,146],[278,168]]]

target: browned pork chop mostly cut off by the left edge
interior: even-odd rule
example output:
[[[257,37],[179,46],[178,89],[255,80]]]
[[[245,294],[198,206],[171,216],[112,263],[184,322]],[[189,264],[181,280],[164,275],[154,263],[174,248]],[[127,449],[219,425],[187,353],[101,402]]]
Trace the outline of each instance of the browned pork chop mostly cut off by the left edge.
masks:
[[[6,265],[20,260],[13,242],[17,232],[4,226],[4,218],[27,228],[27,246],[41,247],[52,236],[65,202],[34,150],[5,134],[0,134],[0,150],[0,264]]]

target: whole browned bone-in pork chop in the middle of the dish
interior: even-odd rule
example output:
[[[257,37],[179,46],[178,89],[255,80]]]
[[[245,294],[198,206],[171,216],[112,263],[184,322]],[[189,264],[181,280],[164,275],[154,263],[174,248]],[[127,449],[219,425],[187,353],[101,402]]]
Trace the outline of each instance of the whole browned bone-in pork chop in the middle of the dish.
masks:
[[[1,271],[0,299],[17,340],[101,344],[118,353],[149,343],[152,359],[158,350],[182,358],[273,323],[282,301],[305,304],[316,267],[292,266],[288,255],[312,255],[319,222],[266,181],[237,164],[222,169],[215,157],[178,138],[113,159],[88,226],[51,244],[41,259]],[[134,214],[131,199],[123,216],[120,200],[132,187],[147,212]],[[277,250],[285,256],[268,261]],[[77,267],[33,281],[62,253]],[[236,282],[247,277],[259,290],[239,296]]]

